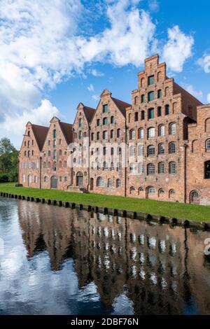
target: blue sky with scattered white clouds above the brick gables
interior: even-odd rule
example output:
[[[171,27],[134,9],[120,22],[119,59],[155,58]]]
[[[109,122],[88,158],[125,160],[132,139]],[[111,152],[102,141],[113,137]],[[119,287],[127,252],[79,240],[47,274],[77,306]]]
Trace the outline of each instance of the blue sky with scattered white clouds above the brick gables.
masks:
[[[106,88],[130,102],[144,59],[210,103],[210,3],[0,0],[0,138],[20,147],[27,121],[73,123]]]

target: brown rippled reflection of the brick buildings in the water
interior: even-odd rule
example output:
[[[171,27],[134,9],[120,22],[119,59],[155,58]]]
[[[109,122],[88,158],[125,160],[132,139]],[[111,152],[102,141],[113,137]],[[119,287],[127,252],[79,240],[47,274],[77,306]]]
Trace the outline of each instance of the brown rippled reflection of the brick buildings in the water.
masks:
[[[28,202],[18,212],[28,258],[47,251],[53,271],[72,258],[104,307],[125,292],[135,314],[210,314],[209,232]]]

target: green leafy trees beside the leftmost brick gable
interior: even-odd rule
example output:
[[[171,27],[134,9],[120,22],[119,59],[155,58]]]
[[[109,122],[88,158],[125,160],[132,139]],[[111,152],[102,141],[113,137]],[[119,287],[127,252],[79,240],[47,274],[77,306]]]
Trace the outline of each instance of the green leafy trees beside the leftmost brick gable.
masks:
[[[8,138],[0,140],[0,173],[6,174],[9,181],[18,179],[18,151]]]

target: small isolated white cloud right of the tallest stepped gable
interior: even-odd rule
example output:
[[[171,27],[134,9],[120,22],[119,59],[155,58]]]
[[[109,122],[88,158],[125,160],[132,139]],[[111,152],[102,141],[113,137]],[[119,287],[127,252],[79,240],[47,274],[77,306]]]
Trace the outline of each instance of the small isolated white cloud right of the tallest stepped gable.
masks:
[[[162,57],[169,69],[175,72],[183,70],[183,64],[192,56],[193,36],[187,36],[179,26],[168,29],[169,40],[163,47]]]

